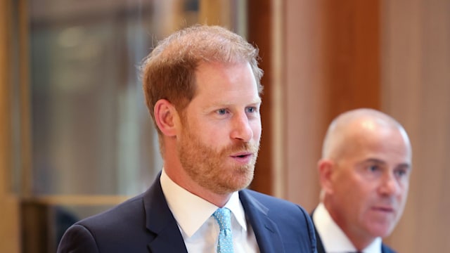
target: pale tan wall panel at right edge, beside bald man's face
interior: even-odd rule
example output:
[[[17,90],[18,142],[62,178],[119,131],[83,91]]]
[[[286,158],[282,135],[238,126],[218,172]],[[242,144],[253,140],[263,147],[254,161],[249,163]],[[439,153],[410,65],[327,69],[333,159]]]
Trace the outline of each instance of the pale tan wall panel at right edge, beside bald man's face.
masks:
[[[450,1],[383,1],[383,17],[383,108],[413,145],[408,202],[386,241],[450,252]]]

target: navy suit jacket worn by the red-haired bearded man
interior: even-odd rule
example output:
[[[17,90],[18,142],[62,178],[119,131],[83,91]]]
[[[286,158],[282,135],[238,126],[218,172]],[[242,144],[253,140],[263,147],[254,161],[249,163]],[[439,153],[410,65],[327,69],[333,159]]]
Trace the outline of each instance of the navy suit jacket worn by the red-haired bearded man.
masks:
[[[157,177],[141,195],[72,225],[58,252],[187,252]],[[260,252],[316,252],[309,214],[286,200],[240,190]]]

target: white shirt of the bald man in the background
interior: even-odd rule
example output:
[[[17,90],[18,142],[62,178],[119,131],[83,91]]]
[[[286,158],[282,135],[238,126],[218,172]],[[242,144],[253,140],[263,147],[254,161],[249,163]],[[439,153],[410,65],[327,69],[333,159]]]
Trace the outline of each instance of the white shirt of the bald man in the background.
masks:
[[[312,219],[316,226],[317,233],[319,233],[321,237],[323,249],[325,249],[326,252],[356,252],[356,248],[353,246],[352,242],[350,242],[344,231],[342,231],[335,221],[333,221],[323,203],[320,203],[314,210]],[[381,253],[381,242],[381,238],[375,238],[375,240],[361,252]]]

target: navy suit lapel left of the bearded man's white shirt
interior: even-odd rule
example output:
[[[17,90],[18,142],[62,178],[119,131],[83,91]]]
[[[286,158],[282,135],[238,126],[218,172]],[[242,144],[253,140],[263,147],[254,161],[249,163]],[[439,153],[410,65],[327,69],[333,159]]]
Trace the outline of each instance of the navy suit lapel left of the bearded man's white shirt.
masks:
[[[162,193],[160,175],[143,197],[146,227],[152,234],[150,252],[188,252],[176,220]]]

